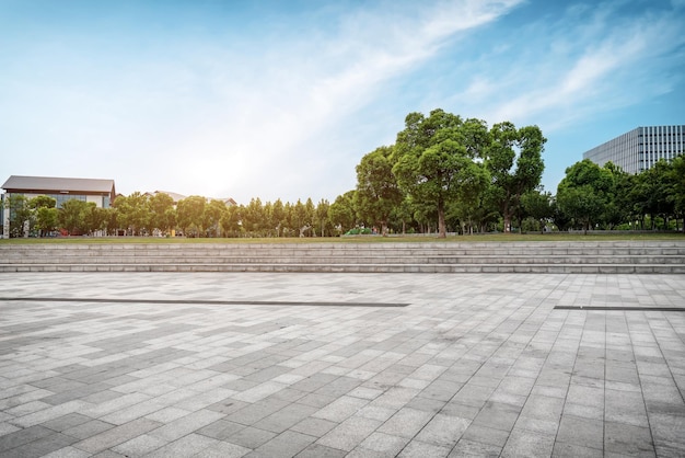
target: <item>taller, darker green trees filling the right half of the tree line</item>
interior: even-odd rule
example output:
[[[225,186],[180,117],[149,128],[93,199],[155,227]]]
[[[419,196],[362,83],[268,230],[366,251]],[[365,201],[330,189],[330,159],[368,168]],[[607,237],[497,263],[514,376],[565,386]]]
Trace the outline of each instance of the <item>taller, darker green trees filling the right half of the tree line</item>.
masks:
[[[330,207],[348,226],[378,225],[383,233],[682,230],[685,156],[636,175],[582,160],[553,195],[541,185],[545,142],[537,126],[410,113],[396,142],[365,154],[356,188]]]

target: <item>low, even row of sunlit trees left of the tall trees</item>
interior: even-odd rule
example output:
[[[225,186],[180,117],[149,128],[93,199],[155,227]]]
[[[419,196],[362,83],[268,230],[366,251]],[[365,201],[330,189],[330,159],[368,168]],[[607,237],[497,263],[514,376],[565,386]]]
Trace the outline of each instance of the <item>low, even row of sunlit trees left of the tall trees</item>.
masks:
[[[103,234],[103,236],[171,236],[185,237],[322,237],[339,234],[327,214],[329,204],[322,199],[314,205],[283,204],[280,199],[263,204],[254,198],[248,205],[229,206],[223,201],[189,196],[177,203],[164,193],[152,196],[135,192],[119,195],[112,207],[71,199],[56,208],[49,196],[27,199],[12,195],[10,237],[24,233]]]

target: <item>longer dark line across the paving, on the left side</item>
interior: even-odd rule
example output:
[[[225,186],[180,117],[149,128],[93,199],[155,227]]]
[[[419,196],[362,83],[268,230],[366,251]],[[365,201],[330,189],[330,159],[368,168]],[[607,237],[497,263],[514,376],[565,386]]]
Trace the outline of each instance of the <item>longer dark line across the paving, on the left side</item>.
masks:
[[[172,304],[209,306],[300,306],[300,307],[407,307],[400,302],[341,302],[341,301],[293,301],[293,300],[214,300],[214,299],[117,299],[86,297],[0,297],[0,301],[18,302],[98,302],[98,304]]]

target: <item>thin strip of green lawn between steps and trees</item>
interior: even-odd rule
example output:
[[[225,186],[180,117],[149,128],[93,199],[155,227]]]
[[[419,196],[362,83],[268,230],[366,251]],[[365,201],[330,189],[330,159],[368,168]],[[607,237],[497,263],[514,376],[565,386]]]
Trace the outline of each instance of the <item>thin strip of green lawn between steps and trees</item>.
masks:
[[[582,233],[487,233],[473,236],[451,236],[439,239],[437,236],[405,236],[405,237],[380,237],[380,236],[352,236],[352,237],[305,237],[305,238],[262,238],[262,239],[186,239],[155,238],[155,237],[60,237],[45,239],[2,239],[1,244],[31,244],[31,243],[413,243],[413,242],[519,242],[519,241],[601,241],[601,240],[684,240],[682,233],[662,232],[591,232]]]

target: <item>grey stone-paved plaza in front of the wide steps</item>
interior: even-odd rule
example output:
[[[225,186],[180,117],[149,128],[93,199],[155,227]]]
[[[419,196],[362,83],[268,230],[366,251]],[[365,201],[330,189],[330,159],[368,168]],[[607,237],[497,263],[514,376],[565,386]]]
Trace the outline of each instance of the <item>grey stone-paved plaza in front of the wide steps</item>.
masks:
[[[685,456],[685,275],[0,275],[1,457]]]

